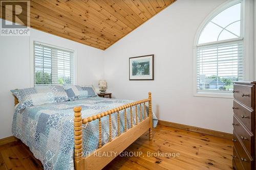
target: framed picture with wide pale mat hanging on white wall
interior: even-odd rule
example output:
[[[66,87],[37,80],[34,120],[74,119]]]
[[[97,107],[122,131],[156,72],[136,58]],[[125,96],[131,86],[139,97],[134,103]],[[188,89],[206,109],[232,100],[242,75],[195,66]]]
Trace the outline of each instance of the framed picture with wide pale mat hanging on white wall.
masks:
[[[129,80],[154,80],[154,54],[129,58]]]

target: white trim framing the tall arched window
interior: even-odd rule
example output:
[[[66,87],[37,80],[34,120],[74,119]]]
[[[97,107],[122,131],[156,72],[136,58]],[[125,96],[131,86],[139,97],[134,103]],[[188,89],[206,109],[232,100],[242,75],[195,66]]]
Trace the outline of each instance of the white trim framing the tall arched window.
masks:
[[[194,96],[200,96],[200,97],[210,97],[210,98],[233,98],[233,93],[230,92],[210,92],[210,91],[198,91],[197,90],[197,46],[198,46],[198,39],[200,37],[201,31],[204,29],[204,27],[207,25],[208,21],[210,21],[212,18],[214,18],[217,14],[219,14],[221,11],[229,8],[235,3],[241,2],[241,21],[243,22],[243,26],[241,28],[241,36],[244,39],[244,64],[245,64],[245,70],[244,70],[244,78],[245,80],[253,80],[254,79],[254,52],[253,52],[253,15],[254,15],[254,9],[253,9],[253,0],[234,0],[234,1],[227,1],[223,4],[221,4],[219,7],[217,7],[214,11],[212,11],[201,23],[199,26],[195,39],[194,39],[194,46],[193,46],[193,93]],[[224,40],[229,41],[229,40]],[[210,44],[215,42],[209,42],[205,44]],[[205,45],[200,44],[200,45]],[[199,45],[199,46],[200,46]]]

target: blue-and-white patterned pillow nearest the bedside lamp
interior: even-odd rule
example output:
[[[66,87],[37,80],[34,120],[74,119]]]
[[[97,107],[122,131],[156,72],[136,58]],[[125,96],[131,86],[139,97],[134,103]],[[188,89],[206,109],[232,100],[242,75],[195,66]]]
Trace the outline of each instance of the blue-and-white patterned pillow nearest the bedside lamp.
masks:
[[[70,101],[75,101],[77,99],[87,99],[92,96],[97,96],[97,93],[93,87],[81,87],[78,85],[64,85],[64,88],[69,96]]]

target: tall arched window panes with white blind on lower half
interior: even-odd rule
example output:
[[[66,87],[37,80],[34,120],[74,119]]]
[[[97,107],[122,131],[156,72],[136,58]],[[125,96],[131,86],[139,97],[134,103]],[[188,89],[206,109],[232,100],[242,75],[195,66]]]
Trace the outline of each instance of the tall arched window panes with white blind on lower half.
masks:
[[[210,20],[197,41],[197,93],[231,93],[232,81],[244,80],[244,38],[241,2],[236,1]]]

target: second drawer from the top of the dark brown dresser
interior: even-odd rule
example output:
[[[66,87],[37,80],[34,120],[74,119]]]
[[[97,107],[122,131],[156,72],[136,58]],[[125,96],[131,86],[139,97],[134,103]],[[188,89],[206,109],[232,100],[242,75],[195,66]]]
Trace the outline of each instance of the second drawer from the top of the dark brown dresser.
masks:
[[[253,131],[254,112],[249,108],[242,106],[237,101],[233,101],[233,112],[239,118],[239,120],[250,130]]]

